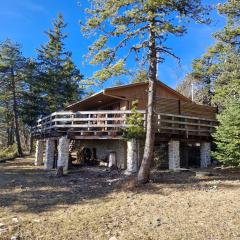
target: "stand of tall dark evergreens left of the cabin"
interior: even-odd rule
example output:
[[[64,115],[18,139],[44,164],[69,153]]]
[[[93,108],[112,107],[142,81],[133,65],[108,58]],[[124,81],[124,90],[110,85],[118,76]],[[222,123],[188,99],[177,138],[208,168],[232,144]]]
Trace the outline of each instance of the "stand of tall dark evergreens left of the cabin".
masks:
[[[32,153],[37,119],[82,98],[83,75],[65,48],[65,27],[59,14],[36,59],[10,39],[0,44],[0,158]]]

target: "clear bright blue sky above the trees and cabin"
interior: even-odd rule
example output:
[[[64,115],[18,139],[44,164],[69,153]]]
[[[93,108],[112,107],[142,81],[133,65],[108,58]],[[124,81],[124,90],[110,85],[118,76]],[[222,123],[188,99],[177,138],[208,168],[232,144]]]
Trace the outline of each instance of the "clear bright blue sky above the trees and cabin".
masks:
[[[218,2],[222,0],[206,0],[208,4]],[[91,76],[95,68],[83,63],[91,40],[82,36],[79,25],[86,6],[87,0],[0,0],[0,41],[10,38],[22,45],[24,56],[36,57],[36,48],[47,41],[44,31],[51,27],[57,14],[62,13],[68,24],[67,49],[72,51],[74,62],[85,77]],[[192,60],[200,57],[214,42],[211,35],[223,27],[224,19],[216,12],[212,13],[212,18],[211,25],[190,24],[187,35],[169,41],[169,46],[181,58],[181,67],[175,60],[167,59],[159,66],[161,81],[175,88],[191,70]]]

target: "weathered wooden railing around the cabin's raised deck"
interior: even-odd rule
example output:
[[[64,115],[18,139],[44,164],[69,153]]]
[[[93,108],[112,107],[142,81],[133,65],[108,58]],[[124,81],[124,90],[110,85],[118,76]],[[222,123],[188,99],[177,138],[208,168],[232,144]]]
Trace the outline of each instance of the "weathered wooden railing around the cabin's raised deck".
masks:
[[[145,111],[139,112],[143,115],[145,127],[146,113]],[[120,135],[121,130],[129,126],[126,120],[131,114],[131,111],[121,110],[55,112],[38,120],[33,133],[36,136],[53,132],[75,132],[79,135],[97,135],[105,132],[110,135]],[[166,113],[156,114],[156,130],[160,133],[210,136],[216,124],[214,119]]]

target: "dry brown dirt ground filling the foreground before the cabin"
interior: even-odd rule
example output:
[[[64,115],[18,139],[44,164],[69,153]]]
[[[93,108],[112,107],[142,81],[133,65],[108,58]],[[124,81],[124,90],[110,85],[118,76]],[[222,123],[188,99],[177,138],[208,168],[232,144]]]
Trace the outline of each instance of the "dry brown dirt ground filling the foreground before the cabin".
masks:
[[[240,239],[240,171],[210,171],[135,187],[104,168],[55,178],[32,158],[0,163],[0,239]]]

